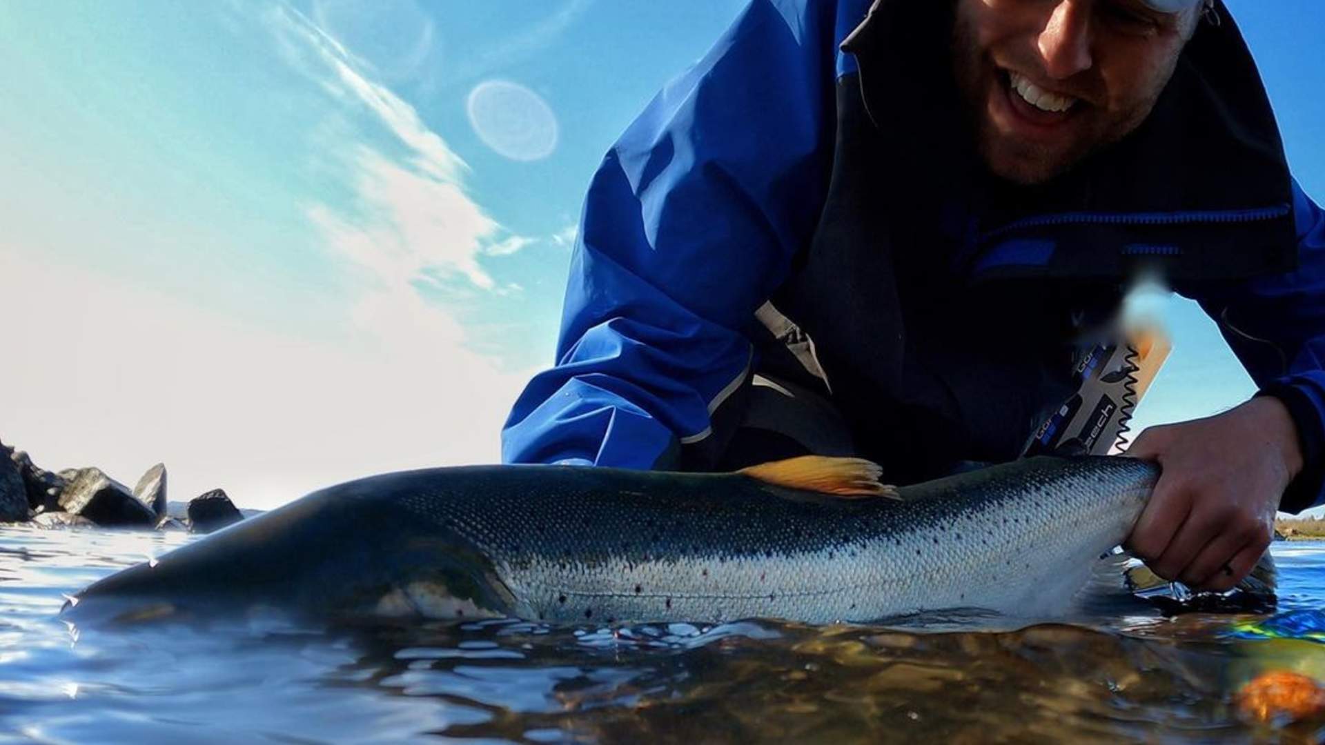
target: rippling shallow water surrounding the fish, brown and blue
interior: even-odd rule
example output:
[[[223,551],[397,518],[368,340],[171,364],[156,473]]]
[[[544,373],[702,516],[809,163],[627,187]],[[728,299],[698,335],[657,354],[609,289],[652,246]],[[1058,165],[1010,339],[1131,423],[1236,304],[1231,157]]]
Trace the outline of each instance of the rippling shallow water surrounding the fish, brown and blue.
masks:
[[[1313,741],[1234,705],[1325,679],[1325,544],[1277,544],[1273,616],[946,632],[776,622],[70,628],[72,593],[183,534],[0,528],[0,744]]]

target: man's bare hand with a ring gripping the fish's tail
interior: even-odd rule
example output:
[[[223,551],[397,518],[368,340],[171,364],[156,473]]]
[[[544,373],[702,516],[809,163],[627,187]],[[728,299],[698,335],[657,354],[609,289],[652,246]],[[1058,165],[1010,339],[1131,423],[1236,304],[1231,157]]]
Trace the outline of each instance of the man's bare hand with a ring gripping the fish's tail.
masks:
[[[1275,532],[1275,510],[1302,468],[1297,428],[1273,396],[1216,416],[1151,427],[1128,449],[1163,468],[1128,547],[1165,579],[1232,589]]]

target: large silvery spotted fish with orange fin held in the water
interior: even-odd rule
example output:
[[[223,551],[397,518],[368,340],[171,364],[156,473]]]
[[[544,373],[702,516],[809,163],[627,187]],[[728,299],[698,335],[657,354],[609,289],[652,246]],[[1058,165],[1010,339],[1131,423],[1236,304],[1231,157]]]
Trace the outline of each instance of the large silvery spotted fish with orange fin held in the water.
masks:
[[[1086,607],[1157,465],[1036,456],[922,484],[810,456],[734,473],[472,465],[314,492],[69,599],[70,622],[290,616],[806,623]],[[1124,555],[1124,558],[1126,558]]]

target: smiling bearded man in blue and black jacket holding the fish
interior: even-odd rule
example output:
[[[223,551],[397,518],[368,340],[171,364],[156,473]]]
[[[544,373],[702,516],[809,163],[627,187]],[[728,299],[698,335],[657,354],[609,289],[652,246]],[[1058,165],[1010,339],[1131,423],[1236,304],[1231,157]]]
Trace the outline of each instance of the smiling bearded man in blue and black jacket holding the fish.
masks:
[[[1321,501],[1325,216],[1220,0],[754,0],[607,155],[504,457],[1018,457],[1141,269],[1260,394],[1143,432],[1129,545],[1224,590]],[[868,11],[868,17],[867,17]],[[839,48],[840,44],[840,48]]]

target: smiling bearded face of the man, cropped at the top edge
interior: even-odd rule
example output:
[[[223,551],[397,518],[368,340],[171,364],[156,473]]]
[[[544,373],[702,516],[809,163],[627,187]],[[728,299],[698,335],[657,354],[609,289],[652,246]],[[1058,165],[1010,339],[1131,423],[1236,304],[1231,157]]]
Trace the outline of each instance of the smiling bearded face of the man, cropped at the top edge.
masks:
[[[1134,130],[1196,24],[1141,0],[955,0],[954,72],[977,144],[1032,184]]]

